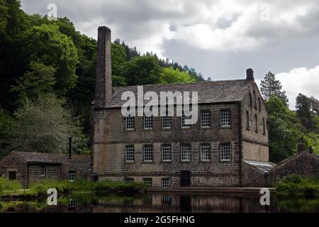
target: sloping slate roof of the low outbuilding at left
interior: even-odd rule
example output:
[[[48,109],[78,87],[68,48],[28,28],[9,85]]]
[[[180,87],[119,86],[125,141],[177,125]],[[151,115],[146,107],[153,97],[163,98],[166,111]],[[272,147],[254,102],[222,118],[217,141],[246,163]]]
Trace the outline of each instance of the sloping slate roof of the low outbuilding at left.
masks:
[[[18,157],[21,157],[28,163],[63,164],[69,165],[70,167],[82,172],[89,172],[89,168],[91,167],[91,157],[89,155],[73,155],[72,159],[69,159],[69,155],[64,154],[21,151],[13,151],[12,153],[18,155]]]

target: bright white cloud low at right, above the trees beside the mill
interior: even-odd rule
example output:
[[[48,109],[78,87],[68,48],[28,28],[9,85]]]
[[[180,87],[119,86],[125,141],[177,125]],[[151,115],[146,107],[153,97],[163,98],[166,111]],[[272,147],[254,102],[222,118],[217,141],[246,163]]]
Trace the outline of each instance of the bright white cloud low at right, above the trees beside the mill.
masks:
[[[299,93],[319,98],[319,65],[312,69],[299,67],[290,72],[281,72],[276,74],[276,79],[279,79],[282,89],[286,91],[290,109],[295,108]]]

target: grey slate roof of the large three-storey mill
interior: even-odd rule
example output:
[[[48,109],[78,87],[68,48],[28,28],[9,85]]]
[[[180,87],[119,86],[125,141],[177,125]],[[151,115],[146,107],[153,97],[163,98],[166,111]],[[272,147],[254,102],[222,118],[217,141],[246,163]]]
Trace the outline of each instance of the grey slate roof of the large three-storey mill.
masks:
[[[143,92],[198,92],[198,104],[218,103],[229,101],[241,101],[247,94],[251,80],[233,79],[213,82],[179,83],[179,84],[147,84],[143,85]],[[126,100],[122,101],[123,92],[133,92],[137,99],[138,87],[113,87],[113,102],[108,107],[121,107]],[[145,104],[148,101],[145,101]]]

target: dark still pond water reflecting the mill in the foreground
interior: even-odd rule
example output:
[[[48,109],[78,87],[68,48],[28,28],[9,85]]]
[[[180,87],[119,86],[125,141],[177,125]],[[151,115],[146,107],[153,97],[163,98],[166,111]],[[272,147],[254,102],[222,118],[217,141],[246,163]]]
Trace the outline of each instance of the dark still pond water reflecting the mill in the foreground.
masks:
[[[262,206],[259,196],[230,194],[147,194],[144,196],[96,196],[72,194],[61,196],[57,206],[47,206],[46,199],[38,201],[0,201],[0,212],[197,212],[197,213],[264,213],[264,212],[319,212],[319,199],[276,199],[270,206]]]

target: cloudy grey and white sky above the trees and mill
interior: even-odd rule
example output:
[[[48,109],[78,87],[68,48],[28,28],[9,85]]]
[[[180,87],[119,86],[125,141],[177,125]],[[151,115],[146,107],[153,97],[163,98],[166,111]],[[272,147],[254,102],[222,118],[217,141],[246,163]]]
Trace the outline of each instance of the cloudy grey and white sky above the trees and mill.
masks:
[[[318,0],[21,0],[27,13],[67,16],[96,38],[101,25],[140,52],[194,67],[213,80],[267,72],[295,106],[298,93],[319,98]]]

